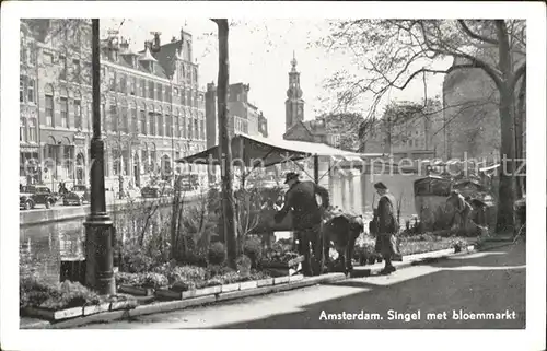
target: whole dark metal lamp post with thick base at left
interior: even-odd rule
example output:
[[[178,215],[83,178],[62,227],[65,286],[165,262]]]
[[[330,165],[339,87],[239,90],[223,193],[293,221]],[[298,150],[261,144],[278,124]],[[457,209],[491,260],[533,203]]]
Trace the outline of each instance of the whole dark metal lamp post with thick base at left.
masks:
[[[113,222],[106,213],[104,141],[101,136],[101,52],[98,19],[92,20],[93,138],[91,139],[91,213],[85,219],[85,284],[100,294],[114,294]]]

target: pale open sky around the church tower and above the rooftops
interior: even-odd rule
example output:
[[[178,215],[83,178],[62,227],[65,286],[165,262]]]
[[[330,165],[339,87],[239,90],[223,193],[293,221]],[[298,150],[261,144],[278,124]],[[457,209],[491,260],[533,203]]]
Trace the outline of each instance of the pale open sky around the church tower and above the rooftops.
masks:
[[[143,48],[150,32],[161,32],[162,43],[179,37],[181,28],[193,35],[194,58],[199,63],[199,85],[218,77],[217,25],[208,19],[116,19],[103,20],[102,30],[119,30],[120,36],[131,42],[136,50]],[[328,34],[327,20],[264,20],[240,22],[230,28],[230,83],[251,84],[249,100],[268,118],[271,138],[280,139],[284,132],[284,101],[289,84],[293,51],[301,72],[301,86],[305,101],[304,118],[314,119],[322,112],[329,110],[325,98],[329,93],[323,82],[340,68],[349,67],[349,60],[324,48],[310,46]],[[446,63],[444,62],[443,66]],[[443,75],[438,74],[428,82],[428,96],[441,94]],[[416,80],[403,92],[393,91],[387,100],[419,101],[423,97],[421,80]],[[323,102],[322,102],[323,101]],[[384,101],[384,103],[385,103]],[[366,104],[366,103],[365,103]],[[368,106],[363,106],[366,109]]]

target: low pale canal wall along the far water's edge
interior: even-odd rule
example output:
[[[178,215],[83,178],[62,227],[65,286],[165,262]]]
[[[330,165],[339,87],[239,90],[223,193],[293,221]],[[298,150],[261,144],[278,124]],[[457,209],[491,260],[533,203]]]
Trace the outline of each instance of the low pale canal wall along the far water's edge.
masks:
[[[187,196],[186,201],[196,201],[198,195]],[[172,206],[172,198],[161,198],[161,199],[144,199],[137,198],[132,200],[132,203],[152,204],[159,203],[160,207]],[[127,210],[128,200],[116,200],[114,203],[106,204],[106,212],[108,214],[120,213]],[[43,225],[53,222],[70,221],[84,219],[90,214],[90,206],[57,206],[50,209],[39,209],[19,212],[19,225],[20,227],[27,227],[33,225]]]

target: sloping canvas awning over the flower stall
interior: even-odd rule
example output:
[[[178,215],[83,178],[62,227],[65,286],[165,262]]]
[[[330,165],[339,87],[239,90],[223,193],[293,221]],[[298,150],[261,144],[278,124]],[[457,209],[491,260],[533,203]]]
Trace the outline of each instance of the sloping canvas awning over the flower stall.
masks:
[[[310,156],[331,156],[345,161],[361,161],[382,157],[381,153],[356,153],[339,150],[324,143],[270,140],[238,133],[232,138],[233,164],[245,163],[246,166],[268,167],[275,164],[303,160]],[[218,165],[218,145],[177,160],[179,163]]]

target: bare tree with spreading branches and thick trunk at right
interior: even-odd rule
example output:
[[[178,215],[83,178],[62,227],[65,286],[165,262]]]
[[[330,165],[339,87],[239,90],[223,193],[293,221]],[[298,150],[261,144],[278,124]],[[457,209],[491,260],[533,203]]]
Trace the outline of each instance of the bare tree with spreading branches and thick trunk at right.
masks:
[[[340,93],[340,105],[354,104],[372,95],[369,115],[392,89],[404,90],[422,77],[427,101],[428,74],[480,69],[493,82],[499,95],[501,126],[497,232],[514,227],[514,103],[515,86],[526,72],[526,24],[522,20],[352,20],[333,23],[333,33],[322,43],[352,54],[360,73],[335,74],[328,86]],[[435,69],[440,59],[454,58],[449,69]],[[508,160],[509,159],[509,160]]]

